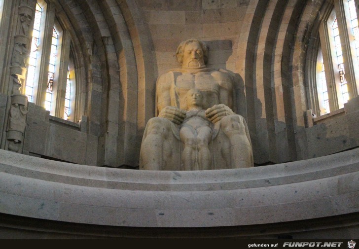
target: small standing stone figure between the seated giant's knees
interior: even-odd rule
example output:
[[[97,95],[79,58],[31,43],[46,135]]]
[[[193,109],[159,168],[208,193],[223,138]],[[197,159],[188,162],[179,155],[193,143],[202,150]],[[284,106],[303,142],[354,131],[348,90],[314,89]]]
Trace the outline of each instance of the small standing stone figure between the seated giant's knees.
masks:
[[[184,170],[204,170],[212,164],[209,143],[212,141],[213,123],[203,109],[203,95],[198,89],[186,94],[188,110],[179,128],[179,138],[184,146],[182,164]]]

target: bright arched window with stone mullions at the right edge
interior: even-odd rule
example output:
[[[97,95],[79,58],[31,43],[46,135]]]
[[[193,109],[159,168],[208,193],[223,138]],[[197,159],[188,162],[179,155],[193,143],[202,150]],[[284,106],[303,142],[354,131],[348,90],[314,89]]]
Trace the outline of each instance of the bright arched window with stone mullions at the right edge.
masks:
[[[344,107],[358,96],[359,28],[354,0],[334,1],[319,30],[317,96],[312,107],[317,115]],[[324,70],[325,69],[325,70]]]

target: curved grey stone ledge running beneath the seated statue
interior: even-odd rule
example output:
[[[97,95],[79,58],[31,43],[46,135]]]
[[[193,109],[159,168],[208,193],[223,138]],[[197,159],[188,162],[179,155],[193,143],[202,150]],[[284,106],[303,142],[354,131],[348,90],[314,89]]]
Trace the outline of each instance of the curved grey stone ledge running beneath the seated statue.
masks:
[[[139,171],[0,150],[0,213],[130,227],[278,223],[359,212],[359,148],[247,169]]]

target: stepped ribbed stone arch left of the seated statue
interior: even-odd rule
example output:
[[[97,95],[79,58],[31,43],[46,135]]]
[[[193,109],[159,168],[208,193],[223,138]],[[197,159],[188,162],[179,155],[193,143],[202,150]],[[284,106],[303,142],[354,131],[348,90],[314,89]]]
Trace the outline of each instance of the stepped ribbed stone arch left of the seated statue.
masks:
[[[149,96],[154,95],[155,79],[145,36],[138,32],[144,27],[136,5],[130,3],[129,7],[126,2],[115,0],[102,4],[54,2],[59,9],[64,6],[65,15],[73,23],[72,35],[81,40],[88,68],[84,114],[89,118],[89,133],[100,136],[98,164],[112,167],[138,164],[139,151],[135,148],[139,147],[142,134],[137,125],[139,121],[140,129],[144,129],[146,120],[154,113],[154,102]]]

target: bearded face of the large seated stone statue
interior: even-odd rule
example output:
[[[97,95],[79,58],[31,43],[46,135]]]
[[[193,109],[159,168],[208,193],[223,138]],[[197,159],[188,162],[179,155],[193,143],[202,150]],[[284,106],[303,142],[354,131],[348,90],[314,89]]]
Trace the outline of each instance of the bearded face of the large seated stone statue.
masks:
[[[182,66],[186,68],[201,68],[205,65],[200,44],[190,42],[184,47]]]

